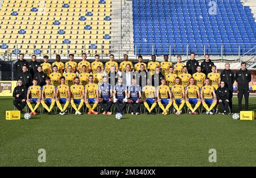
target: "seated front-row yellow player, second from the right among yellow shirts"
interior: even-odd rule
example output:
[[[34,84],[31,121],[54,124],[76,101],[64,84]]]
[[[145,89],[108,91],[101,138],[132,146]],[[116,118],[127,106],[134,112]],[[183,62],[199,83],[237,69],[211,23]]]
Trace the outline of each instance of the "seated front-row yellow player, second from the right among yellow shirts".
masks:
[[[188,112],[191,115],[197,115],[196,109],[200,107],[201,97],[200,97],[200,88],[195,85],[195,79],[189,79],[189,85],[185,87],[185,103],[190,109]],[[192,107],[192,104],[195,104],[195,107]]]

